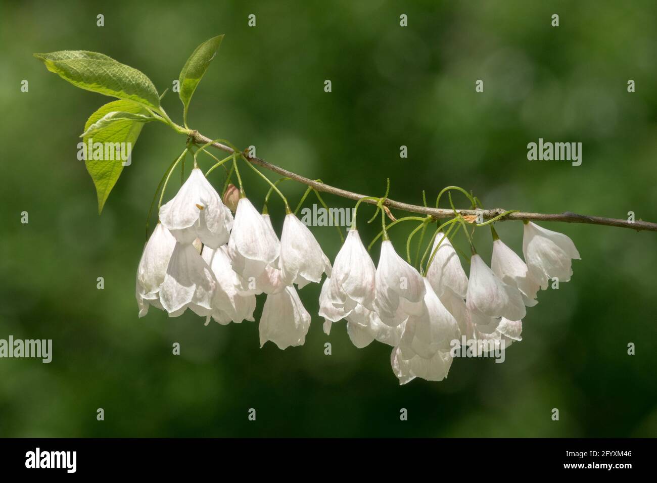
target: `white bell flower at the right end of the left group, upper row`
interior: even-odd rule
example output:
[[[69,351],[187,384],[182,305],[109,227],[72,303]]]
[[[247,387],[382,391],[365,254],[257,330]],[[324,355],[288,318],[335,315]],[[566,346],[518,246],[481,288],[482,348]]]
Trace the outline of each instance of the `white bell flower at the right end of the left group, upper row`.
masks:
[[[331,276],[331,265],[313,234],[293,213],[285,216],[281,233],[281,272],[286,285],[299,288]]]

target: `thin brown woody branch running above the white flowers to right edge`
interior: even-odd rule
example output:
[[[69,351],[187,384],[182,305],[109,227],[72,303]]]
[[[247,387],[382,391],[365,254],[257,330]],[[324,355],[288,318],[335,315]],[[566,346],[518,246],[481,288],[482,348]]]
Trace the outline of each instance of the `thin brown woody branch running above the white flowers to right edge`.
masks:
[[[198,131],[190,131],[189,137],[196,144],[201,145],[210,145],[217,149],[221,149],[225,152],[233,154],[235,150],[223,143],[212,142],[212,139],[206,137],[199,133]],[[257,164],[262,168],[265,168],[269,171],[278,173],[282,176],[289,177],[298,181],[309,187],[313,187],[317,191],[323,191],[325,193],[330,193],[331,195],[342,196],[342,198],[348,198],[350,200],[360,200],[363,199],[363,202],[369,204],[377,204],[377,198],[373,198],[367,195],[359,195],[358,193],[353,193],[352,191],[347,191],[345,189],[336,188],[334,186],[327,185],[326,183],[321,183],[313,179],[309,179],[302,175],[292,173],[284,168],[271,164],[265,160],[262,160],[256,156],[250,156],[248,152],[240,153],[247,160],[253,164]],[[427,206],[419,206],[415,204],[403,203],[400,201],[391,200],[386,198],[383,202],[384,206],[388,208],[396,208],[397,210],[403,210],[405,212],[411,213],[420,213],[424,215],[432,216],[434,219],[450,218],[454,216],[454,210],[450,208],[430,208]],[[650,221],[628,221],[627,219],[618,219],[618,218],[603,218],[601,216],[589,216],[589,215],[580,215],[572,212],[563,212],[563,213],[528,213],[528,212],[512,212],[505,214],[507,210],[502,208],[495,208],[493,210],[457,210],[457,213],[463,216],[478,216],[481,215],[483,219],[492,219],[495,217],[500,217],[497,221],[507,221],[507,220],[521,220],[521,221],[563,221],[565,223],[587,223],[589,225],[604,225],[610,227],[620,227],[620,228],[629,228],[636,231],[657,231],[657,223],[651,223]],[[505,214],[505,215],[504,215]],[[504,215],[504,216],[501,216]]]

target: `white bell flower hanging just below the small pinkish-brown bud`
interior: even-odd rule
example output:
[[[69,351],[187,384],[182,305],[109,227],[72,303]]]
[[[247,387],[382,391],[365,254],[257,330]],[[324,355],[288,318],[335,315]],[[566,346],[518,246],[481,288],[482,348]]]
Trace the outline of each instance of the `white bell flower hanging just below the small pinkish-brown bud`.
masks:
[[[247,287],[253,287],[267,265],[279,256],[280,243],[271,225],[258,213],[248,198],[237,203],[228,254],[233,270]]]

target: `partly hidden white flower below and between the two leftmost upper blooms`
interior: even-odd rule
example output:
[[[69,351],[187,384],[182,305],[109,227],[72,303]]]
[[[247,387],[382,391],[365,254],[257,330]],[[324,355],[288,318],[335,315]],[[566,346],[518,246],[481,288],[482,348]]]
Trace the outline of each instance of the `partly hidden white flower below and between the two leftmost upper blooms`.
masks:
[[[221,246],[216,250],[203,249],[202,258],[210,265],[217,279],[217,290],[212,302],[212,318],[221,325],[242,320],[254,321],[253,311],[256,309],[256,296],[242,290],[242,280],[233,271],[231,259],[226,253],[227,248]],[[209,319],[208,319],[209,321]]]

